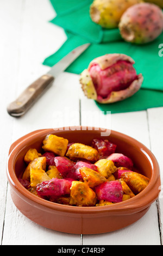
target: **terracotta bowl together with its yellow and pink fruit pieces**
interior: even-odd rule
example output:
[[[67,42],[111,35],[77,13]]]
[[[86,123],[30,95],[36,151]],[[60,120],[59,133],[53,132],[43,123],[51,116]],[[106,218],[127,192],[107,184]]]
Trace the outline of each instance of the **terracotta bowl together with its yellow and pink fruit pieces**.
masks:
[[[159,164],[134,138],[103,131],[43,129],[14,142],[7,177],[17,209],[71,234],[107,233],[145,215],[159,196]]]

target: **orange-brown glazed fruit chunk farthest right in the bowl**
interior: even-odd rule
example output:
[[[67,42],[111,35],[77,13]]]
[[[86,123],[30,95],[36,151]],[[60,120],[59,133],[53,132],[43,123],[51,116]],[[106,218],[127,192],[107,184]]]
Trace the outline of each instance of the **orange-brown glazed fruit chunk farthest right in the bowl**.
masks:
[[[146,176],[136,172],[124,172],[121,174],[121,178],[123,178],[134,194],[140,193],[149,183],[149,179]]]

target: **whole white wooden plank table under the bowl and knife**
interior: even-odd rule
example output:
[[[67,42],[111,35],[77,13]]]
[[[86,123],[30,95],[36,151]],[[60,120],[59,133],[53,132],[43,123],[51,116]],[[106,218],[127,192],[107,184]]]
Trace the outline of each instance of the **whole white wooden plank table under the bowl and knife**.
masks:
[[[54,86],[22,118],[7,113],[7,105],[36,78],[49,70],[43,59],[66,40],[64,31],[48,21],[54,17],[48,0],[0,0],[1,28],[1,159],[0,239],[2,245],[161,245],[163,194],[139,221],[112,233],[71,235],[49,230],[28,220],[12,203],[5,173],[9,147],[26,133],[70,125],[110,127],[136,138],[152,150],[163,179],[163,107],[105,115],[81,92],[78,75],[64,72]],[[162,58],[163,61],[163,58]],[[73,92],[73,93],[72,93]],[[96,120],[87,111],[97,112]],[[67,114],[70,113],[69,117]],[[120,125],[122,124],[122,125]],[[161,180],[163,181],[163,180]]]

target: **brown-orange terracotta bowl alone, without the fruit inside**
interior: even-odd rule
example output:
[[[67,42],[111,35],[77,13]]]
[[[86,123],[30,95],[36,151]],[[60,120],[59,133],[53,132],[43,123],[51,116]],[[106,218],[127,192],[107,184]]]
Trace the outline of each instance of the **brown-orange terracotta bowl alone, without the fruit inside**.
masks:
[[[37,130],[11,145],[7,176],[11,197],[17,209],[43,227],[71,234],[107,233],[139,220],[159,196],[159,165],[145,145],[116,131],[111,131],[111,134],[105,138],[117,144],[117,152],[130,157],[136,169],[150,179],[148,186],[134,198],[108,206],[69,206],[38,198],[20,184],[18,178],[22,177],[25,168],[24,155],[29,148],[36,148],[40,151],[43,138],[47,134],[53,133],[67,138],[69,142],[89,145],[92,139],[101,138],[104,132],[103,129],[92,127],[74,126],[73,129],[70,128]]]

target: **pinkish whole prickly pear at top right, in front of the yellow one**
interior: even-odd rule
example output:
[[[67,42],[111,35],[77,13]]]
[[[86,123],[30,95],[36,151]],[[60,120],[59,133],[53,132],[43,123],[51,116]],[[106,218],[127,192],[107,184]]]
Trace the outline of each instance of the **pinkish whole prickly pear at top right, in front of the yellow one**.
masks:
[[[128,42],[151,42],[163,31],[162,10],[151,3],[135,4],[122,15],[119,28],[122,38]]]

